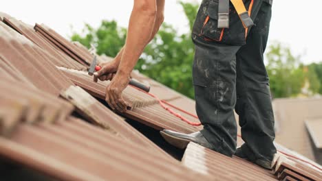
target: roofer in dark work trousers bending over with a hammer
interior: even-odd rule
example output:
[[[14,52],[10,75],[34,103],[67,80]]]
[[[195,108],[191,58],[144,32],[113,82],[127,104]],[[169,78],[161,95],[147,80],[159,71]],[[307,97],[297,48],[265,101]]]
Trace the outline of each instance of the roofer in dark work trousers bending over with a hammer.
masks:
[[[156,3],[155,9],[155,1],[134,1],[125,47],[96,75],[100,80],[109,80],[117,71],[107,87],[107,103],[113,109],[125,110],[121,92],[129,83],[140,53],[163,20],[164,0]],[[163,130],[161,134],[169,143],[184,148],[192,141],[270,169],[276,153],[275,131],[263,53],[271,5],[272,0],[202,1],[192,38],[196,110],[204,128],[193,134]],[[245,141],[237,149],[234,109]]]

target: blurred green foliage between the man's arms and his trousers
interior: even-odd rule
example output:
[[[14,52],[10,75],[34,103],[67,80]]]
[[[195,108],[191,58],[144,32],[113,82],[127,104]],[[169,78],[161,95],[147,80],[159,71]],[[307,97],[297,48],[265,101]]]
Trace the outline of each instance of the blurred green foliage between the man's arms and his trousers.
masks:
[[[198,5],[180,2],[192,29]],[[178,34],[167,23],[163,23],[158,34],[144,50],[136,66],[140,72],[193,98],[192,64],[194,46],[191,31]]]

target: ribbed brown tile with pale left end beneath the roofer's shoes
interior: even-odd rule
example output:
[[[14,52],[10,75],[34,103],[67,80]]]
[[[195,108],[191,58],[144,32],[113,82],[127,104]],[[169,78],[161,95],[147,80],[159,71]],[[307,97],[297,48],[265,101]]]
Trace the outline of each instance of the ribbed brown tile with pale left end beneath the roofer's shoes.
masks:
[[[269,170],[241,158],[230,158],[195,143],[189,143],[182,163],[219,180],[276,180]]]

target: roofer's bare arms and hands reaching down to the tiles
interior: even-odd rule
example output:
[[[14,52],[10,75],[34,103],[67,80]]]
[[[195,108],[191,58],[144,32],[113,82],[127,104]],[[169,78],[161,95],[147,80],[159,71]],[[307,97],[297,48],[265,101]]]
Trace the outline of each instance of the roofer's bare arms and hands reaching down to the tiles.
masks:
[[[154,36],[153,32],[158,30],[158,28],[154,28],[155,22],[159,22],[156,21],[158,16],[157,4],[157,0],[134,0],[127,40],[122,52],[118,55],[122,54],[120,64],[116,68],[115,62],[111,63],[94,73],[94,77],[97,79],[100,75],[104,76],[106,73],[116,71],[116,75],[106,88],[105,97],[105,101],[113,110],[124,112],[127,108],[127,103],[122,97],[122,91],[129,84],[129,75],[138,62],[142,51],[151,40],[151,36]]]

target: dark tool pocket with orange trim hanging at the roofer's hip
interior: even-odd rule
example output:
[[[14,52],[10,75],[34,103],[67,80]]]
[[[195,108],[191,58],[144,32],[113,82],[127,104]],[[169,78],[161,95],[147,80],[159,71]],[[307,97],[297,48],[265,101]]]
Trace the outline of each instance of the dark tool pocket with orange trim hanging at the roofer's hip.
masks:
[[[249,4],[250,2],[247,1],[246,7]],[[206,41],[227,45],[244,45],[246,43],[246,30],[235,8],[230,3],[229,28],[218,28],[218,5],[218,0],[202,3],[193,26],[193,34],[204,38]]]

